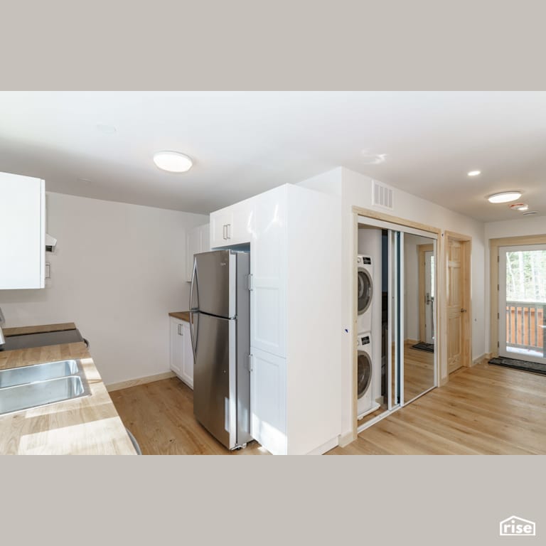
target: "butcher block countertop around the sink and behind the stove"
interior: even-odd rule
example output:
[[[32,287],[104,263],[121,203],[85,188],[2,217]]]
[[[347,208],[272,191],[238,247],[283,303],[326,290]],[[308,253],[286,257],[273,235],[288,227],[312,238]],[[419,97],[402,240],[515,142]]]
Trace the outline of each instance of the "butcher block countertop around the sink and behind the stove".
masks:
[[[75,328],[73,323],[4,328],[4,335]],[[135,455],[85,343],[0,352],[0,369],[79,358],[91,395],[0,415],[0,454]]]

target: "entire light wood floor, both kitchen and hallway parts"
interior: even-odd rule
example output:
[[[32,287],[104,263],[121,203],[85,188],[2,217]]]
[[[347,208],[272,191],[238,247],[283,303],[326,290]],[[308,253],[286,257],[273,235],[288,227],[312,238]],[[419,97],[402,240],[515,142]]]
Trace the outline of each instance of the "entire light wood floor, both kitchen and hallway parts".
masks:
[[[143,454],[267,454],[257,442],[228,451],[193,417],[178,378],[110,393]],[[546,454],[546,376],[478,364],[328,454]]]

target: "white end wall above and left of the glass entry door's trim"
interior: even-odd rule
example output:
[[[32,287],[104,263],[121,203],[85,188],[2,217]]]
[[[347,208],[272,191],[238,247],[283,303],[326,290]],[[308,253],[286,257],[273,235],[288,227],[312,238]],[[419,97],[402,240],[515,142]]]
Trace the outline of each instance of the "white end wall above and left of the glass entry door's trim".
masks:
[[[486,309],[491,305],[491,296],[489,294],[490,277],[490,251],[489,240],[501,239],[503,237],[523,237],[525,235],[546,235],[546,218],[544,216],[523,217],[517,220],[505,220],[503,222],[489,222],[485,225],[486,235]],[[486,313],[486,348],[487,352],[493,351],[491,348],[491,319],[489,313]]]

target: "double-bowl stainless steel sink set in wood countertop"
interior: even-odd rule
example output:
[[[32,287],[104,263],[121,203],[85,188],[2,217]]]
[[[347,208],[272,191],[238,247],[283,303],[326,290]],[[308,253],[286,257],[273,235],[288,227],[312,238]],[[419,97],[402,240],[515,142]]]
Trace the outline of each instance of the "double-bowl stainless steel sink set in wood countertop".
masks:
[[[79,360],[10,368],[1,370],[0,377],[0,414],[90,395]]]

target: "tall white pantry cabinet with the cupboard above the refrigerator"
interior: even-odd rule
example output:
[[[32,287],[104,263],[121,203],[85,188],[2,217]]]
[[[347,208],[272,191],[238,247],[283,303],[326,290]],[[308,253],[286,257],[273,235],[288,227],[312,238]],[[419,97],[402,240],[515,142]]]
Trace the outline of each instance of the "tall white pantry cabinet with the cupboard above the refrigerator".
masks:
[[[341,433],[341,199],[285,184],[210,215],[210,246],[250,243],[252,437],[321,453]]]

